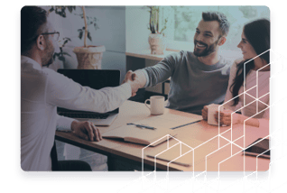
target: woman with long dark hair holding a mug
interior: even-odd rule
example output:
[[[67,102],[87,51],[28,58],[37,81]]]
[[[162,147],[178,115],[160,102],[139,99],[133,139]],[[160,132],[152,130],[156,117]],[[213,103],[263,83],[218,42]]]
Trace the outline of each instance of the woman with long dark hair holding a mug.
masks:
[[[245,119],[252,116],[245,124],[257,127],[263,124],[269,125],[269,108],[267,106],[269,104],[268,92],[271,71],[270,65],[267,65],[270,62],[269,51],[267,50],[271,48],[270,33],[270,22],[266,19],[245,24],[241,35],[242,40],[237,45],[243,53],[243,59],[236,60],[230,69],[227,95],[224,102],[226,110],[220,111],[220,124],[230,125],[231,114],[240,109],[241,114],[232,115],[232,124],[244,124]],[[263,52],[264,54],[262,54]],[[255,87],[257,70],[258,86]],[[245,91],[247,91],[245,94],[244,86]],[[232,98],[234,99],[231,100]],[[256,101],[255,98],[259,98],[259,100]],[[207,106],[204,106],[202,109],[203,119],[207,119],[207,115]],[[218,122],[218,114],[215,117]]]

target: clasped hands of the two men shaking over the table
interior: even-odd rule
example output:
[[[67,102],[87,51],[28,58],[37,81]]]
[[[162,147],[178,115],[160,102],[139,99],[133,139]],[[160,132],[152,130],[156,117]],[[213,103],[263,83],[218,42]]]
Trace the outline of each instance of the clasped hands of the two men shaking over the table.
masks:
[[[136,92],[139,88],[144,87],[146,83],[146,78],[144,74],[140,71],[133,72],[132,70],[128,70],[125,74],[124,83],[130,84],[132,88],[132,97],[136,95]]]

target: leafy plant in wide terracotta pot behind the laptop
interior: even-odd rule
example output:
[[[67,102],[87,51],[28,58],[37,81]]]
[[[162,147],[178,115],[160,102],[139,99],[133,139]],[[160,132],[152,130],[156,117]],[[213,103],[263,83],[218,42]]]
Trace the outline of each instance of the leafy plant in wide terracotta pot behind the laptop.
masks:
[[[84,27],[79,29],[79,39],[84,37],[84,46],[75,47],[74,52],[77,55],[78,60],[78,69],[101,69],[101,62],[103,57],[103,52],[106,51],[105,46],[93,46],[87,44],[87,38],[92,41],[90,36],[90,32],[88,32],[88,25],[93,24],[95,30],[98,29],[97,27],[97,18],[94,17],[87,17],[85,6],[80,6],[82,9],[83,14],[80,16],[84,19]],[[49,12],[55,11],[55,14],[59,14],[62,17],[66,17],[66,8],[69,10],[69,13],[72,13],[73,10],[76,9],[75,5],[51,5],[51,9]],[[62,55],[61,55],[62,56]]]

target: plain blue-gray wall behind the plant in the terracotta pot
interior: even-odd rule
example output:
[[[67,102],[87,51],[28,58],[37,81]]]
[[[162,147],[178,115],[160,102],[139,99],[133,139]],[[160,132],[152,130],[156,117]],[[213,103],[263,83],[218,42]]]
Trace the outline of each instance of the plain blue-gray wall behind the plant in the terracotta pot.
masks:
[[[50,7],[42,6],[46,10]],[[125,6],[88,5],[86,7],[87,16],[96,17],[99,29],[95,31],[93,25],[88,26],[92,41],[87,40],[88,45],[105,45],[106,51],[103,53],[102,69],[119,69],[121,71],[121,81],[125,78]],[[84,20],[79,14],[82,10],[76,6],[72,14],[66,10],[66,18],[52,13],[55,28],[60,32],[60,38],[69,37],[69,41],[63,51],[69,53],[66,62],[56,60],[53,69],[66,68],[76,69],[78,61],[73,52],[74,47],[83,46],[83,38],[79,39],[78,29],[84,26]]]

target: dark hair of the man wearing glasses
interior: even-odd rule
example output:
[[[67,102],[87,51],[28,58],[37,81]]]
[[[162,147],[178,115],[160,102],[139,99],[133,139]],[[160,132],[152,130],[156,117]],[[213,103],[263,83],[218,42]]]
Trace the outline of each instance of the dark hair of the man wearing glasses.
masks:
[[[32,49],[38,30],[47,23],[47,12],[41,7],[29,5],[21,9],[21,54]]]

